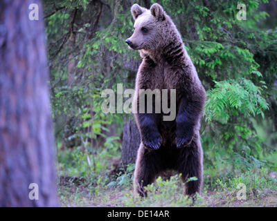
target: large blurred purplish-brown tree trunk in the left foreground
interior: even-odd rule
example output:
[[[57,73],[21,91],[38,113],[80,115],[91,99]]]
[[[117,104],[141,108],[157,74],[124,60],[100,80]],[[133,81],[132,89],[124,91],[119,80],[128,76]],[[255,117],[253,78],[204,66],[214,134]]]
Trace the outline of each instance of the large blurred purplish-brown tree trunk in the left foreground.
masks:
[[[0,206],[58,206],[44,41],[40,1],[0,1]]]

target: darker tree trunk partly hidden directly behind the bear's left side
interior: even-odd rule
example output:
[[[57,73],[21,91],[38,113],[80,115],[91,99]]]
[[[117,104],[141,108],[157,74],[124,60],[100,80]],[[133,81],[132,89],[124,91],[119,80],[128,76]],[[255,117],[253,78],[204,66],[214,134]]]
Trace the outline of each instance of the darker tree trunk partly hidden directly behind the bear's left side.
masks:
[[[139,129],[134,122],[134,119],[129,119],[123,127],[123,145],[121,151],[121,159],[123,166],[134,164],[136,162],[136,152],[139,149],[141,137]]]

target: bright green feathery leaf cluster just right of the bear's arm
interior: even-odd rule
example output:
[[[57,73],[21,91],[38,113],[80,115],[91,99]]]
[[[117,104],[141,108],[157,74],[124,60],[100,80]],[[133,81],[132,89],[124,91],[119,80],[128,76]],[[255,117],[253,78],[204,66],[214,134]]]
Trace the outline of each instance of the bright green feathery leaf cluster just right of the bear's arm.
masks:
[[[249,79],[215,81],[215,88],[208,91],[206,120],[227,124],[231,116],[244,118],[262,115],[268,104],[261,96],[261,88]]]

